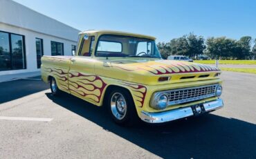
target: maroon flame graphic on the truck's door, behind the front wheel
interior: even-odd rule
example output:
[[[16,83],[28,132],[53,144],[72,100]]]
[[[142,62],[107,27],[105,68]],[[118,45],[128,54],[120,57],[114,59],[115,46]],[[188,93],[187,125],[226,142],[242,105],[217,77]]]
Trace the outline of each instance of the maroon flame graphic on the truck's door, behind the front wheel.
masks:
[[[72,72],[68,73],[68,86],[71,92],[99,103],[107,84],[97,75]]]

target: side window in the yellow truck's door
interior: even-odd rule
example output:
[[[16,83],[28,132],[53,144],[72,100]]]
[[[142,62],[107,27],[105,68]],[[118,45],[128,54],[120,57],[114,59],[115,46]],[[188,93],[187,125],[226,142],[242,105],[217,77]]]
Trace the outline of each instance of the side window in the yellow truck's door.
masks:
[[[93,44],[95,41],[94,36],[89,36],[84,39],[82,39],[82,45],[80,47],[79,56],[91,56],[91,53],[93,53]]]

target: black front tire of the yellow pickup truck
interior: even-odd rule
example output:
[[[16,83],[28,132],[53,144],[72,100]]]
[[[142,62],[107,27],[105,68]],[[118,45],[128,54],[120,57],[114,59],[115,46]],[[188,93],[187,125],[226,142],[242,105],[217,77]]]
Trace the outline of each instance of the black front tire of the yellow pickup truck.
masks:
[[[115,95],[122,95],[122,97],[125,99],[126,103],[126,112],[123,113],[122,118],[118,118],[117,113],[119,115],[122,113],[121,111],[118,111],[118,106],[116,105],[116,111],[113,111],[115,106],[111,106],[111,103],[113,105],[113,98]],[[119,98],[122,98],[119,97]],[[138,115],[137,111],[134,105],[134,100],[131,97],[131,94],[129,91],[125,90],[124,88],[112,88],[111,91],[109,92],[109,96],[107,97],[107,109],[109,110],[109,115],[111,115],[111,118],[113,119],[114,122],[120,125],[131,125],[135,124],[136,120],[138,120]],[[115,97],[114,97],[115,98]],[[122,98],[122,99],[123,99]],[[118,97],[116,97],[118,99]],[[116,102],[117,104],[118,102]],[[122,104],[121,104],[122,105]],[[116,113],[114,113],[116,112]],[[116,114],[116,115],[114,115]]]

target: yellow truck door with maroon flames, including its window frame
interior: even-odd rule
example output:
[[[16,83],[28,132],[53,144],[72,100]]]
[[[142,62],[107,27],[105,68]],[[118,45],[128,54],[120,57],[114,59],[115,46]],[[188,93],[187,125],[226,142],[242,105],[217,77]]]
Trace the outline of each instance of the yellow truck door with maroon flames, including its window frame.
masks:
[[[88,102],[98,102],[95,96],[94,59],[91,58],[95,37],[82,37],[77,55],[71,59],[68,73],[68,87],[72,95]]]

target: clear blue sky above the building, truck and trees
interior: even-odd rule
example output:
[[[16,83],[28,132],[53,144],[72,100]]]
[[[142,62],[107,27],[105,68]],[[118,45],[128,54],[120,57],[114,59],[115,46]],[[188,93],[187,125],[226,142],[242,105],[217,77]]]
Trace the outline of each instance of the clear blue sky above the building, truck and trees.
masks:
[[[254,0],[15,0],[79,30],[106,29],[170,41],[194,32],[203,37],[256,38]]]

